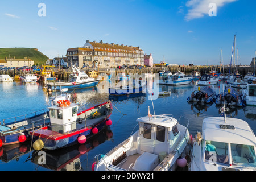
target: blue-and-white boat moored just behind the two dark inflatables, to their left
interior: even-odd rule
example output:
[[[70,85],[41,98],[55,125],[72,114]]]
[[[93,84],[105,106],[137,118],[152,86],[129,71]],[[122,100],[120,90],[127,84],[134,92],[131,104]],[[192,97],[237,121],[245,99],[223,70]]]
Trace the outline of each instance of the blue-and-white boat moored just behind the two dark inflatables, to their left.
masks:
[[[165,84],[167,85],[187,85],[191,84],[193,78],[191,76],[187,76],[184,73],[178,71],[174,75],[166,80]]]

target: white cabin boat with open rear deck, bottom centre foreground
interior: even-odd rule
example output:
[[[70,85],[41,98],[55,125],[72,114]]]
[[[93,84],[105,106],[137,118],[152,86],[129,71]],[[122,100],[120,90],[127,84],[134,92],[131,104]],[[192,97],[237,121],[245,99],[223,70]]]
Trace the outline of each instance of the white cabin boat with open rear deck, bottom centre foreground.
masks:
[[[148,115],[137,119],[139,130],[105,155],[94,158],[95,171],[174,170],[189,142],[188,125],[180,125],[167,115]],[[180,157],[181,156],[181,157]]]

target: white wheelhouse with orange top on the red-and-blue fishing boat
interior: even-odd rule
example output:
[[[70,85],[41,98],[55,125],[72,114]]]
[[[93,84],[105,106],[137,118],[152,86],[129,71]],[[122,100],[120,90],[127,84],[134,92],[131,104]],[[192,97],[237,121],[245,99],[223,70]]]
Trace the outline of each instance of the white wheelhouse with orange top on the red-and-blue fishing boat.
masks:
[[[51,130],[67,133],[76,129],[77,111],[77,104],[69,100],[57,101],[57,105],[49,107]]]

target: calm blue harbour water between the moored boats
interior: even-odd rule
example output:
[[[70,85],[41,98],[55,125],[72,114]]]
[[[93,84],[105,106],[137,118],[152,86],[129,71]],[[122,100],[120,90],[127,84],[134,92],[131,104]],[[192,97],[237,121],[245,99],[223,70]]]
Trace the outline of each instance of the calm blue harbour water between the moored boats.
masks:
[[[225,84],[214,85],[213,88],[218,94]],[[162,88],[163,87],[163,88]],[[196,82],[183,86],[159,86],[160,90],[171,90],[170,96],[159,96],[153,100],[155,114],[173,114],[179,120],[180,116],[188,118],[189,133],[195,136],[201,131],[201,123],[206,117],[218,117],[220,113],[215,104],[208,106],[192,106],[188,104],[187,98],[196,89]],[[72,90],[69,90],[70,93]],[[36,156],[30,142],[2,147],[0,152],[0,170],[26,170],[26,171],[48,171],[48,170],[84,170],[91,171],[94,156],[106,154],[113,147],[127,139],[137,129],[136,119],[148,114],[150,106],[151,114],[154,114],[152,101],[148,100],[146,94],[138,97],[125,96],[112,98],[109,94],[100,94],[97,89],[76,90],[77,102],[85,104],[86,108],[113,100],[113,113],[110,116],[113,124],[95,138],[88,140],[83,145],[75,145],[56,151],[46,151],[46,165],[39,165],[34,162]],[[16,117],[18,115],[32,113],[40,109],[47,109],[49,94],[39,84],[23,84],[22,82],[0,82],[0,119]],[[124,99],[124,100],[122,100]],[[245,120],[251,129],[256,133],[256,107],[243,107],[233,109],[228,117]],[[180,123],[184,125],[187,120],[181,118]]]

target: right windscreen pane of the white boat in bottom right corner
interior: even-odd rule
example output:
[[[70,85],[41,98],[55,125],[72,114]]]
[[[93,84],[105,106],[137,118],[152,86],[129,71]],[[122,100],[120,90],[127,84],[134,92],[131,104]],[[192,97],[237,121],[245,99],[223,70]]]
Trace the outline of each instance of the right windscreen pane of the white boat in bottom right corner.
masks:
[[[230,144],[233,162],[237,166],[250,165],[256,167],[254,146],[244,144]]]

